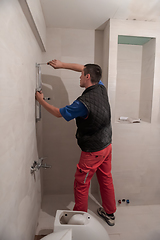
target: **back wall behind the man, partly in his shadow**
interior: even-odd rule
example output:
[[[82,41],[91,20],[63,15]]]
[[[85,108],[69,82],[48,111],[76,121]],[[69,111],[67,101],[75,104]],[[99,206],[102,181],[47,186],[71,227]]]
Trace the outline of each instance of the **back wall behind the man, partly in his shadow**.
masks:
[[[80,64],[94,63],[94,31],[76,29],[47,29],[47,52],[43,62],[59,59]],[[43,93],[50,104],[60,108],[71,104],[84,89],[79,87],[80,73],[42,66]],[[66,122],[42,109],[43,152],[45,162],[52,165],[44,169],[44,194],[73,193],[74,174],[79,161],[75,120]]]

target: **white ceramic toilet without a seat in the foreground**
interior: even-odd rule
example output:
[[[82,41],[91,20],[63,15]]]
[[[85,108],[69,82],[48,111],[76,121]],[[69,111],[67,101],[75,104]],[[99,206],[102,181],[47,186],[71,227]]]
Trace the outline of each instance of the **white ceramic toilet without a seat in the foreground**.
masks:
[[[57,210],[54,232],[44,240],[110,240],[100,222],[86,212]]]

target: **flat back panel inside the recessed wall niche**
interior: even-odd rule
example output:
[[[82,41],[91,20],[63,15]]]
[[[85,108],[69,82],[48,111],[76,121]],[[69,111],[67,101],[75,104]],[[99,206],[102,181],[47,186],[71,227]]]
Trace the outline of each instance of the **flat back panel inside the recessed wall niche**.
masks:
[[[142,49],[118,44],[115,121],[121,116],[139,118]]]

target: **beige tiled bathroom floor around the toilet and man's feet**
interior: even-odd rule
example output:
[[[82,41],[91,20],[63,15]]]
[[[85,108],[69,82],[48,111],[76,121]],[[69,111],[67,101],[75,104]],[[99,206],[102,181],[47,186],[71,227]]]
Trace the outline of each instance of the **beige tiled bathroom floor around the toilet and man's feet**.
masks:
[[[47,195],[43,199],[36,235],[53,232],[56,210],[72,210],[72,195]],[[160,240],[160,205],[117,207],[116,225],[110,227],[96,211],[98,203],[89,198],[88,212],[106,228],[111,240]]]

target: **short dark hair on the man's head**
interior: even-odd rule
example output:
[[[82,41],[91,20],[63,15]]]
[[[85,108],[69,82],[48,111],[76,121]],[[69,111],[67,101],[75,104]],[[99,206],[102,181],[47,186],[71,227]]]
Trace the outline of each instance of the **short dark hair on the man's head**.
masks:
[[[86,74],[90,74],[92,83],[98,83],[102,78],[102,69],[97,64],[89,63],[84,65],[84,76]]]

